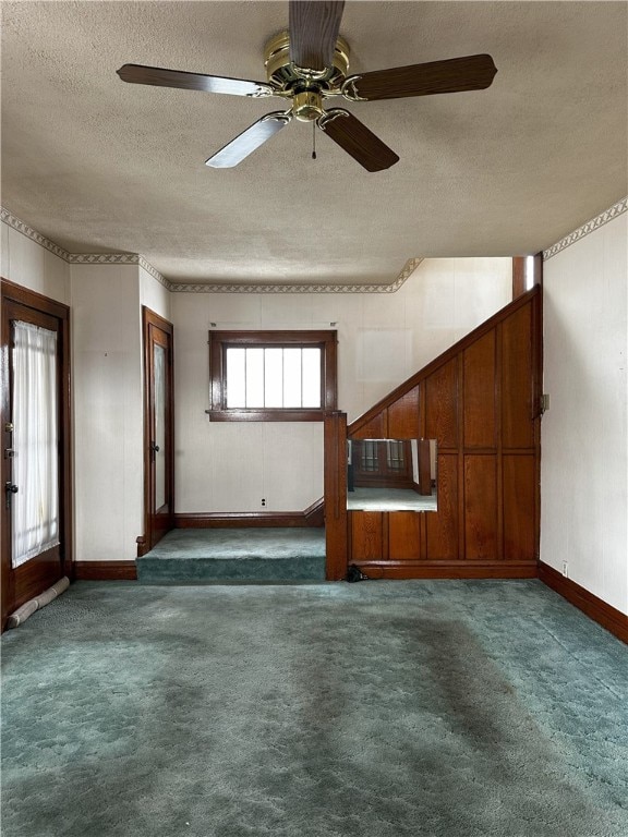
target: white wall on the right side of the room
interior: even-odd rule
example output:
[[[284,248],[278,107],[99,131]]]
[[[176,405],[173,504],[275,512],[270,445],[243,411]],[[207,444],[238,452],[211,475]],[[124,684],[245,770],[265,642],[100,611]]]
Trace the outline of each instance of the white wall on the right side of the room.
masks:
[[[544,264],[541,560],[628,614],[628,215]]]

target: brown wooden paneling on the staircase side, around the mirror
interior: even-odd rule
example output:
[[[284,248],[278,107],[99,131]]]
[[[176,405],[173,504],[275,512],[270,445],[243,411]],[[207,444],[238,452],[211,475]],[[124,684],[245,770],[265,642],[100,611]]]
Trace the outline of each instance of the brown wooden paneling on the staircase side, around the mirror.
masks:
[[[366,556],[377,551],[379,532],[362,531],[355,519],[351,556],[365,571],[371,567],[385,578],[534,577],[542,350],[536,286],[349,427],[353,438],[402,437],[418,390],[419,438],[438,444],[438,510],[420,515],[420,557],[410,557],[416,539],[410,518],[383,517],[378,558]]]

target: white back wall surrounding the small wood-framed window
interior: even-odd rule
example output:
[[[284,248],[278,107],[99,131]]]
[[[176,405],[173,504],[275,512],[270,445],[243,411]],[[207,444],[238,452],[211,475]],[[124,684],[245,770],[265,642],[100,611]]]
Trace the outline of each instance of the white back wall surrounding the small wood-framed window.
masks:
[[[509,258],[427,259],[391,294],[173,293],[177,511],[261,511],[262,498],[295,511],[323,496],[321,422],[208,421],[212,323],[336,328],[338,407],[353,421],[510,299]]]

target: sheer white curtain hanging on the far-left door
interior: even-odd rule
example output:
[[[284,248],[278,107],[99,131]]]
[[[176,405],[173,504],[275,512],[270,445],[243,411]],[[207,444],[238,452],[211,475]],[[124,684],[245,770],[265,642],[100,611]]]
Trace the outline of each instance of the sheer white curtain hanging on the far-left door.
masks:
[[[59,543],[57,333],[29,323],[13,331],[12,565]]]

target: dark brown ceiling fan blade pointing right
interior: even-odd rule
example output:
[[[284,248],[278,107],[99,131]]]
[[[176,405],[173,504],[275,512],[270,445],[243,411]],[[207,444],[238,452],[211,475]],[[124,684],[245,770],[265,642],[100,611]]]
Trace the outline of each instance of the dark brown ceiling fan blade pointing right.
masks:
[[[490,87],[497,68],[491,56],[463,56],[426,64],[395,66],[349,76],[342,93],[350,100],[398,99],[435,93],[483,90]]]

